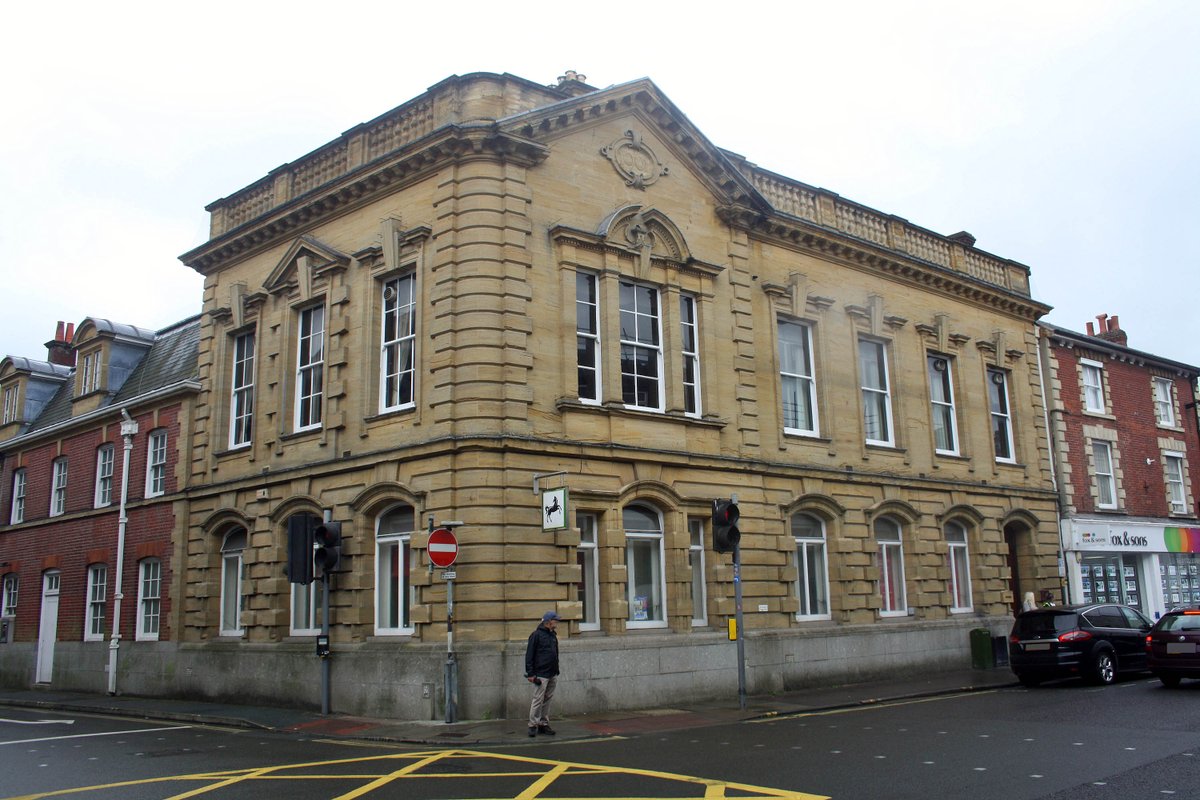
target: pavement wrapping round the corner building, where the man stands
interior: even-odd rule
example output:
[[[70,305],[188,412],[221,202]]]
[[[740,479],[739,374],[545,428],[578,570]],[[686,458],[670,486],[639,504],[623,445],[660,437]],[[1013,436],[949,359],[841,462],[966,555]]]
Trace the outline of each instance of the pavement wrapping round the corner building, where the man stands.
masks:
[[[702,728],[773,716],[829,711],[960,692],[1013,686],[1007,667],[954,669],[898,675],[863,684],[814,686],[780,694],[750,696],[745,708],[737,687],[727,699],[684,703],[662,708],[618,710],[553,718],[554,741],[635,736],[638,734]],[[563,688],[566,688],[564,685]],[[668,700],[668,698],[664,698]],[[47,709],[68,714],[103,714],[136,720],[215,724],[312,736],[337,736],[412,745],[478,746],[528,742],[526,720],[384,720],[304,709],[170,698],[65,692],[50,687],[0,692],[0,706]],[[539,736],[539,740],[544,736]]]

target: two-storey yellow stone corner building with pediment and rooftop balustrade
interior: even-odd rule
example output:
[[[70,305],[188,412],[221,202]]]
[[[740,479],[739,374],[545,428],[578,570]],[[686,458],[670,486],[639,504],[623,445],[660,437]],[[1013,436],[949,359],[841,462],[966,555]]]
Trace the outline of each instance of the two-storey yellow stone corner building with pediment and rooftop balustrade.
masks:
[[[966,663],[1057,578],[1028,270],[714,146],[649,80],[451,77],[209,206],[176,693],[433,717],[457,519],[463,717]],[[565,488],[568,527],[539,495]]]

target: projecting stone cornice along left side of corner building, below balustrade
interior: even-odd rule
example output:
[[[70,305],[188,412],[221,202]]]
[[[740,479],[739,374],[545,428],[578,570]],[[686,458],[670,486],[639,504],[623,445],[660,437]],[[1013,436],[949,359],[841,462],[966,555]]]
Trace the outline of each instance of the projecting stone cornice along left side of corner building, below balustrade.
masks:
[[[180,260],[197,272],[208,275],[229,261],[295,236],[302,228],[394,192],[398,186],[418,180],[446,163],[469,158],[498,158],[532,167],[545,161],[548,155],[550,149],[545,145],[500,132],[492,124],[450,125],[398,154],[365,164],[342,180],[300,196],[184,253]]]

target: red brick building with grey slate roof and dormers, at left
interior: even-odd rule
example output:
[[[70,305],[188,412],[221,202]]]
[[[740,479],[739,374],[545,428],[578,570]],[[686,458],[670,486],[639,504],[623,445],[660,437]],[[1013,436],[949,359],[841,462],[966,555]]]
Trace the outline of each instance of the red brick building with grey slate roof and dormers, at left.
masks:
[[[198,331],[89,318],[0,361],[0,685],[161,672]]]

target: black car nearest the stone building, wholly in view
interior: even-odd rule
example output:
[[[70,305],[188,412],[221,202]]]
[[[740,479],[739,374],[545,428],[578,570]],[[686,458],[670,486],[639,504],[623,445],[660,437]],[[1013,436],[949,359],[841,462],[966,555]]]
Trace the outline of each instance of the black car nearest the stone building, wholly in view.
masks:
[[[1018,614],[1008,637],[1008,663],[1026,686],[1055,678],[1111,684],[1118,672],[1146,670],[1150,628],[1150,620],[1128,606],[1036,608]]]

